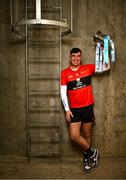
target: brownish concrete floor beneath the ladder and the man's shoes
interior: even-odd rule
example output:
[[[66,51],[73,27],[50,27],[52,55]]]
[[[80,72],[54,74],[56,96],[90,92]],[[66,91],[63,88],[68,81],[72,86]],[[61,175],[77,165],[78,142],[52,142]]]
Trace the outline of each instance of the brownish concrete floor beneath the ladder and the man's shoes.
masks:
[[[126,158],[101,158],[90,173],[80,159],[0,159],[0,179],[126,179]]]

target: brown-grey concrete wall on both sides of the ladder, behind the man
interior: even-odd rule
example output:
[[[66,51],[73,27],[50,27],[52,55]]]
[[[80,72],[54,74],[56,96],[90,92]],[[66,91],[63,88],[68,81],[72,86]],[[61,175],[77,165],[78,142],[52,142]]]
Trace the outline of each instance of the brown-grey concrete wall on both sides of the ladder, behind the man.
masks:
[[[25,42],[10,30],[8,1],[0,1],[0,7],[0,154],[25,156]],[[92,37],[97,30],[113,39],[116,63],[108,74],[92,79],[96,116],[92,139],[102,156],[126,157],[126,1],[73,0],[73,7],[73,33],[62,42],[62,69],[74,46],[82,49],[84,63],[94,63]],[[62,136],[63,157],[80,156],[69,141],[63,109]]]

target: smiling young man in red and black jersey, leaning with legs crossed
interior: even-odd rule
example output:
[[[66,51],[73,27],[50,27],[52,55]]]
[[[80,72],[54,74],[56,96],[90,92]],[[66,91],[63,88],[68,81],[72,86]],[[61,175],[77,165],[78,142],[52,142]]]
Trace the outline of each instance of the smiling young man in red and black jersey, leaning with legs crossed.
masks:
[[[69,123],[70,139],[82,148],[84,169],[90,170],[98,165],[98,149],[91,146],[94,121],[91,76],[95,73],[95,65],[81,65],[81,59],[82,51],[73,48],[70,67],[61,72],[61,99]],[[108,69],[104,68],[104,71]]]

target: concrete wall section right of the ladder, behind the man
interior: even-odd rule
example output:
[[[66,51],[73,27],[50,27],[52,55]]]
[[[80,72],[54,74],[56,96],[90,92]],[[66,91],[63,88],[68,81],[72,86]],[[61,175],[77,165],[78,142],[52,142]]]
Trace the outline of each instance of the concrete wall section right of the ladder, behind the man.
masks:
[[[93,77],[95,126],[93,144],[102,156],[126,156],[126,80],[125,80],[125,0],[75,0],[73,33],[63,40],[62,68],[69,63],[69,51],[79,47],[83,63],[94,63],[93,34],[101,30],[109,34],[116,47],[116,63],[105,75]],[[64,123],[65,124],[65,123]],[[64,151],[68,153],[67,131],[64,128]],[[72,149],[73,150],[73,149]],[[71,154],[71,151],[69,151]],[[75,150],[75,154],[77,151]]]

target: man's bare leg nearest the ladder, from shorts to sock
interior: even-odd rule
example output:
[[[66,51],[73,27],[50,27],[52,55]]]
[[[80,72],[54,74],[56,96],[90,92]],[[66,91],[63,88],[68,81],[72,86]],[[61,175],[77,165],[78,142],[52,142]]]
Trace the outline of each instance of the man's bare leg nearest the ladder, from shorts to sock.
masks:
[[[70,139],[80,145],[84,150],[89,149],[90,144],[81,136],[81,122],[70,123]]]

